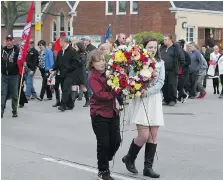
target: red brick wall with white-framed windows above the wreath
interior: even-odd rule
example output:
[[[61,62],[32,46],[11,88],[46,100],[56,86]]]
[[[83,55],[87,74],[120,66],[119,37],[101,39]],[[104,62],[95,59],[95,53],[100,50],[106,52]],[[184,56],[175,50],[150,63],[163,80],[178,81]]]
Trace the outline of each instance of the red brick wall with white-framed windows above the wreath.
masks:
[[[81,1],[74,19],[74,34],[92,34],[104,36],[109,24],[112,36],[120,32],[135,34],[141,31],[155,31],[174,34],[175,16],[169,11],[169,1],[139,1],[139,14],[130,14],[130,2],[127,1],[126,15],[116,15],[116,2],[113,1],[113,15],[105,15],[105,2]]]

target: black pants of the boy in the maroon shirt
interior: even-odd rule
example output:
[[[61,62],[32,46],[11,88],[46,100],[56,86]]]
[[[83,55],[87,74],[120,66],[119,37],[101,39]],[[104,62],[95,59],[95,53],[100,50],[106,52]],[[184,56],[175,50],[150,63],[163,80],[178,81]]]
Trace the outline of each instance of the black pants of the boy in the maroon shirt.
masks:
[[[121,143],[120,117],[104,118],[95,114],[91,121],[97,139],[98,170],[105,171]]]

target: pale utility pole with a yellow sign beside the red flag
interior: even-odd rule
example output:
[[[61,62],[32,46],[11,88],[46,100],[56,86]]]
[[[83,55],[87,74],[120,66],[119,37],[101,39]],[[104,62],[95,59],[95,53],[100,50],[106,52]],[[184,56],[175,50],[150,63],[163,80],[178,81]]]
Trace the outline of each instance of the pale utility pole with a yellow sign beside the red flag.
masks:
[[[35,45],[41,40],[41,1],[35,1]]]

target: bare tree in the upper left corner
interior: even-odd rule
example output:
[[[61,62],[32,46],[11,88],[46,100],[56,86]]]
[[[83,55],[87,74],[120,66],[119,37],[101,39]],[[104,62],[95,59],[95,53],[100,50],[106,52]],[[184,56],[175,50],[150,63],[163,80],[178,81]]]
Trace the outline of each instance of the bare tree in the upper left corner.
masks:
[[[28,13],[30,2],[25,1],[1,1],[1,16],[7,34],[13,33],[16,20]],[[24,22],[25,23],[25,22]]]

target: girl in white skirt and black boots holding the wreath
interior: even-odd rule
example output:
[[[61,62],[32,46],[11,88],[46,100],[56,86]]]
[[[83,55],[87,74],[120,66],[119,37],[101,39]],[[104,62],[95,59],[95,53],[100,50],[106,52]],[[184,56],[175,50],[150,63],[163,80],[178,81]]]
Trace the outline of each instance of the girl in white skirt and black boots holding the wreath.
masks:
[[[136,124],[138,136],[133,139],[129,151],[122,161],[128,171],[137,174],[135,160],[145,144],[143,175],[159,178],[160,175],[153,171],[152,166],[157,148],[158,130],[160,126],[164,126],[161,88],[164,85],[165,68],[164,61],[160,58],[157,40],[153,37],[146,37],[143,46],[155,57],[158,76],[153,80],[152,86],[144,92],[143,97],[132,99],[129,104],[128,120]]]

